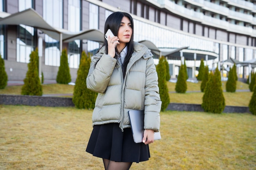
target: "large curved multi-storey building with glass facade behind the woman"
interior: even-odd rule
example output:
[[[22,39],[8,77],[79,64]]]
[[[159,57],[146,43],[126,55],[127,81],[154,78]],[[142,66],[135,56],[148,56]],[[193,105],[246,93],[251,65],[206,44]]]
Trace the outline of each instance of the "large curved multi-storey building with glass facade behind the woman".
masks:
[[[150,41],[161,51],[188,46],[189,50],[214,53],[217,57],[205,62],[210,69],[214,69],[218,63],[229,58],[240,62],[256,58],[255,3],[252,0],[18,0],[14,8],[11,0],[0,0],[0,12],[2,15],[12,14],[32,8],[38,11],[43,20],[53,28],[71,33],[97,29],[103,33],[104,22],[112,12],[126,11],[134,18],[135,41]],[[7,26],[13,32],[8,31]],[[16,31],[14,51],[17,63],[29,62],[29,54],[36,49],[38,37],[43,35],[44,67],[47,70],[57,69],[56,67],[60,65],[62,44],[59,40],[43,33],[37,27],[25,24],[7,26],[0,25],[0,54],[7,60],[7,68],[11,67],[8,61],[14,59],[12,48],[7,46],[9,41],[13,44],[13,38],[7,39],[7,37]],[[94,54],[101,45],[99,42],[79,39],[63,43],[63,49],[67,49],[70,68],[79,68],[82,51]],[[158,57],[155,55],[155,59]],[[168,60],[168,62],[173,66],[172,74],[177,75],[180,59]],[[200,60],[186,60],[186,66],[199,67]],[[223,66],[228,71],[230,66],[225,63]],[[237,69],[240,78],[248,77],[247,66]],[[222,70],[223,73],[227,71]],[[16,76],[9,77],[17,79],[19,76],[25,75],[17,73]],[[49,72],[45,76],[49,79],[54,77]],[[76,76],[76,70],[72,76]]]

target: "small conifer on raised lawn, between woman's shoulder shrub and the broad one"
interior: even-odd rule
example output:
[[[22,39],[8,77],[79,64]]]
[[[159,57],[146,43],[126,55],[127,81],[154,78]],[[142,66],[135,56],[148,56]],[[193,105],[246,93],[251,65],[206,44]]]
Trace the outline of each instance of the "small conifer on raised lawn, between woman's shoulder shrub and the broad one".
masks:
[[[184,65],[182,64],[180,66],[179,75],[177,77],[175,91],[177,93],[186,93],[186,90],[187,90],[187,84],[186,84],[185,68],[184,68]]]

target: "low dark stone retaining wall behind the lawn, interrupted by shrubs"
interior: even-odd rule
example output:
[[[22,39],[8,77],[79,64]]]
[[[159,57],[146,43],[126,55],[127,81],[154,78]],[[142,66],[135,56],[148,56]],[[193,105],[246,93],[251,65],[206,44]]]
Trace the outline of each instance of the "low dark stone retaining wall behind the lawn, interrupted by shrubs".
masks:
[[[73,107],[71,97],[0,95],[0,104],[48,107]],[[204,112],[200,104],[170,103],[166,110]],[[250,113],[248,107],[226,106],[223,113]]]

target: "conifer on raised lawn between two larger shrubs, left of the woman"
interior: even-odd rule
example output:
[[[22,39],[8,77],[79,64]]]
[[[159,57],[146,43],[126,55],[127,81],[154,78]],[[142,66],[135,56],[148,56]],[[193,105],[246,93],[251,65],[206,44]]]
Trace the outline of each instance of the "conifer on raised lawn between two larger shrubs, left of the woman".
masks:
[[[58,68],[56,82],[58,84],[68,84],[71,82],[70,67],[68,65],[66,49],[64,49],[61,53],[61,64]]]

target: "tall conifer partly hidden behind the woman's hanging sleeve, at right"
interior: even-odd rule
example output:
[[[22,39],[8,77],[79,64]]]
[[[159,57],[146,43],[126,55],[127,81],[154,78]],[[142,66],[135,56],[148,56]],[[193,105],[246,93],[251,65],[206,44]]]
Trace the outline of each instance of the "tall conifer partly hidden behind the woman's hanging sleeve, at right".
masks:
[[[162,101],[161,111],[166,110],[166,108],[170,104],[170,97],[166,82],[166,64],[164,64],[164,60],[164,57],[160,57],[159,63],[156,66],[156,71],[158,75],[159,94]]]

